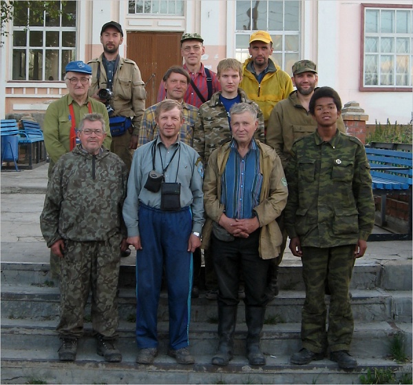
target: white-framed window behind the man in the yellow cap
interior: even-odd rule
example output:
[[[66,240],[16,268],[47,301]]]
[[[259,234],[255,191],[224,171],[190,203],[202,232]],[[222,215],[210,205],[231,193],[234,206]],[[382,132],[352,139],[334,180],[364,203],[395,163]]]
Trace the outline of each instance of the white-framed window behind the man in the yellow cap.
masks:
[[[301,1],[237,0],[235,57],[248,59],[249,37],[256,30],[266,30],[273,38],[273,59],[290,73],[299,60]]]

